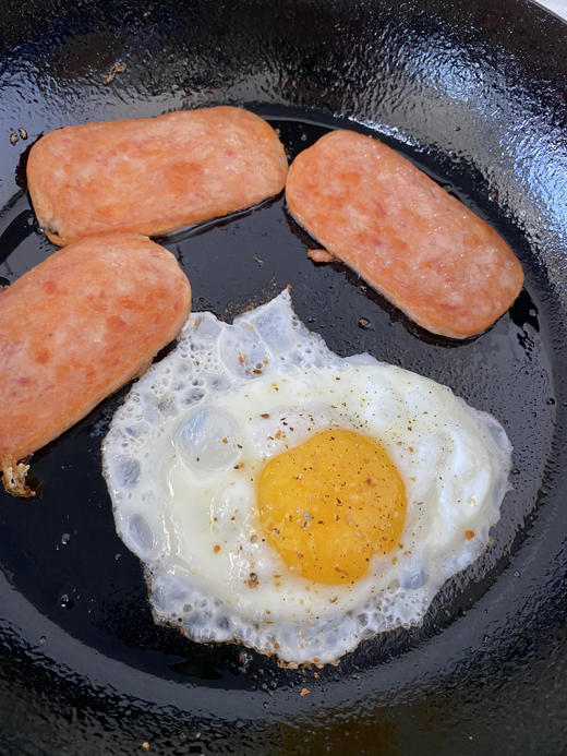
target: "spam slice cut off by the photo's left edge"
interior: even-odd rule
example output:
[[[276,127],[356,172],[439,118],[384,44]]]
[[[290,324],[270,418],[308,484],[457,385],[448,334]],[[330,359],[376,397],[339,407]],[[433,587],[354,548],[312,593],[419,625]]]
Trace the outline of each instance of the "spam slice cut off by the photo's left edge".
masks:
[[[145,370],[191,309],[173,255],[142,236],[89,237],[0,292],[0,469],[29,496],[19,460]]]

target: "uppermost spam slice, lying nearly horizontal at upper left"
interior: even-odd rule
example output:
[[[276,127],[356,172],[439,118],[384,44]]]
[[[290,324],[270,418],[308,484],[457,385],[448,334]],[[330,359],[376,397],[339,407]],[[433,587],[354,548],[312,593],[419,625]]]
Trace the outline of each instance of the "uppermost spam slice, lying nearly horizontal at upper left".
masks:
[[[51,131],[27,183],[56,244],[93,233],[166,233],[250,207],[284,189],[288,160],[262,118],[233,107]]]

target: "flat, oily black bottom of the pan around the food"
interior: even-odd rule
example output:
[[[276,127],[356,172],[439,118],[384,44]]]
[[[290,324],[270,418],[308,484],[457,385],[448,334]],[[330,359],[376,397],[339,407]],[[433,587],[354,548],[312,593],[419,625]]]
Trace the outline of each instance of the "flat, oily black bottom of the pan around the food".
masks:
[[[329,128],[313,120],[270,120],[291,158]],[[10,215],[3,238],[15,243],[11,253],[5,243],[9,254],[1,268],[8,280],[52,250],[35,228],[26,196]],[[282,196],[161,241],[190,277],[195,310],[231,321],[291,284],[298,314],[337,353],[369,351],[427,375],[503,422],[515,447],[515,490],[506,497],[495,543],[482,557],[483,584],[469,585],[467,575],[453,581],[422,627],[364,644],[337,669],[321,672],[319,681],[352,670],[367,672],[458,620],[506,569],[510,550],[524,537],[551,451],[556,398],[548,315],[529,259],[522,260],[527,285],[511,311],[488,333],[459,344],[418,329],[342,265],[314,265],[306,250],[316,242],[287,214]],[[369,325],[361,327],[360,317]],[[138,561],[114,532],[100,475],[100,443],[126,391],[34,455],[38,501],[19,502],[2,493],[1,559],[11,584],[55,623],[55,632],[162,679],[238,691],[266,684],[277,691],[281,684],[312,680],[312,672],[280,671],[274,661],[241,647],[203,647],[154,624]],[[49,635],[36,640],[49,651]]]

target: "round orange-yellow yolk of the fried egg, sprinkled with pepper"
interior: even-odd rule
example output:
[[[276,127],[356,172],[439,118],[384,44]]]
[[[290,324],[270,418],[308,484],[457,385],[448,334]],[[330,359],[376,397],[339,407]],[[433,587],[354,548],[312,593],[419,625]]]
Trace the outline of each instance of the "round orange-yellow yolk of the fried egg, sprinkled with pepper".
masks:
[[[374,554],[398,545],[406,490],[376,441],[330,429],[266,463],[258,515],[290,571],[316,583],[353,583]]]

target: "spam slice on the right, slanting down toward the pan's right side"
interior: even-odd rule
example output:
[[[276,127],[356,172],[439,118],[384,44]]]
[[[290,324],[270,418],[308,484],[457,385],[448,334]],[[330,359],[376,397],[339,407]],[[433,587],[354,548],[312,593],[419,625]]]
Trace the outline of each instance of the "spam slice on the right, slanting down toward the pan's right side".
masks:
[[[435,334],[485,331],[523,285],[493,228],[370,136],[322,136],[294,159],[286,199],[312,237]]]

